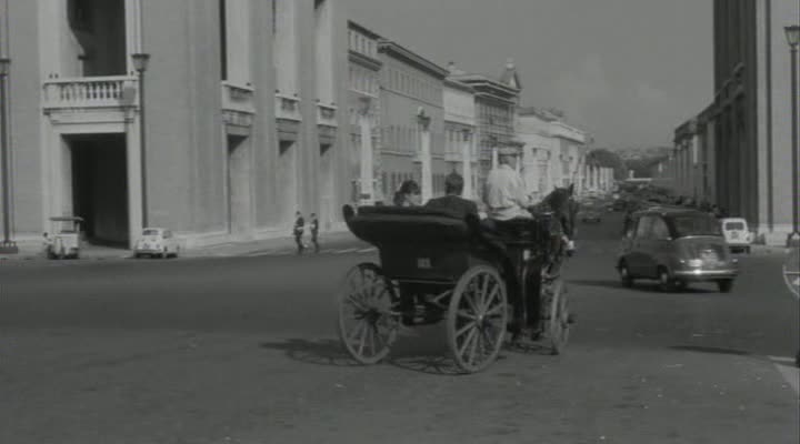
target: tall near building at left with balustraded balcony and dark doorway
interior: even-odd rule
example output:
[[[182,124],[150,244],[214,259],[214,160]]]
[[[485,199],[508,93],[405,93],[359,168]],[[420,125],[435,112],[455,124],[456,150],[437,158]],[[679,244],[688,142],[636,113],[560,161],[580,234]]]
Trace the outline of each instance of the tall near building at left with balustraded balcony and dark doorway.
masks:
[[[63,214],[124,246],[143,224],[193,246],[286,235],[296,211],[340,221],[347,26],[333,0],[0,8],[18,241]]]

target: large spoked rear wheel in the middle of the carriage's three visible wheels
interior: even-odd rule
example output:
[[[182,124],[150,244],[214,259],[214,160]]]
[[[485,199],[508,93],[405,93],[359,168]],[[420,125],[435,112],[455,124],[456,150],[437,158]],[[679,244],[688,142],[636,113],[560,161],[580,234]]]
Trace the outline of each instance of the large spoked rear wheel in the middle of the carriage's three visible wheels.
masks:
[[[464,372],[486,369],[500,353],[508,323],[506,284],[491,266],[469,269],[450,297],[447,333],[456,364]]]

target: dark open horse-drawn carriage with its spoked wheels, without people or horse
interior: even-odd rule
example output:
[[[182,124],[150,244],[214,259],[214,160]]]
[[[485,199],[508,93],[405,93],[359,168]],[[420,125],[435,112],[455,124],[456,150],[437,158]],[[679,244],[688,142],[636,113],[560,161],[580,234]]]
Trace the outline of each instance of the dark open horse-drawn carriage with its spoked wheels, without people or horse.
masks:
[[[339,294],[340,339],[358,362],[384,359],[401,325],[442,320],[464,372],[491,364],[507,331],[519,330],[526,316],[538,316],[553,353],[567,344],[563,284],[546,272],[554,253],[548,215],[498,222],[488,232],[474,215],[442,210],[362,206],[356,214],[346,205],[343,212],[350,231],[380,251],[380,265],[356,265]]]

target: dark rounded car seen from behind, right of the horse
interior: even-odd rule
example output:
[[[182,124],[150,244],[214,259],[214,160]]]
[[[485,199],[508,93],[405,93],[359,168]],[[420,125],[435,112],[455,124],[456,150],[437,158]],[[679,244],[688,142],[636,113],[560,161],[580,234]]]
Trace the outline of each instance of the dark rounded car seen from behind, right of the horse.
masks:
[[[712,215],[653,208],[631,215],[617,271],[626,286],[637,279],[658,280],[663,291],[690,282],[714,282],[720,292],[728,293],[738,275],[738,263]]]

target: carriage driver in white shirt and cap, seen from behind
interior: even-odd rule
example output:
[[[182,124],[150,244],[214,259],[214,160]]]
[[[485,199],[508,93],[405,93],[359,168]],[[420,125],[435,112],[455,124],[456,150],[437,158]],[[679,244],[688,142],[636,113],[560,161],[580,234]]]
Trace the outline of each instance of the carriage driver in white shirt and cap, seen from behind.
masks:
[[[517,149],[512,147],[498,150],[498,167],[489,172],[483,192],[489,219],[508,221],[531,216],[528,211],[530,199],[516,170],[517,154]]]

